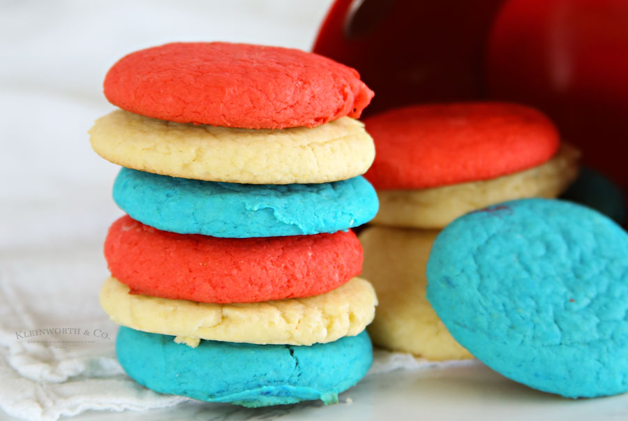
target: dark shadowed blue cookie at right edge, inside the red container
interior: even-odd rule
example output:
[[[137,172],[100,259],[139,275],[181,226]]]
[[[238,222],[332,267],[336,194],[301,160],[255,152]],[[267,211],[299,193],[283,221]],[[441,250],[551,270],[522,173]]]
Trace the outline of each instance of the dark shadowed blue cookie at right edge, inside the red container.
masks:
[[[620,186],[591,168],[580,169],[578,178],[562,198],[592,207],[617,223],[626,220],[624,193]]]

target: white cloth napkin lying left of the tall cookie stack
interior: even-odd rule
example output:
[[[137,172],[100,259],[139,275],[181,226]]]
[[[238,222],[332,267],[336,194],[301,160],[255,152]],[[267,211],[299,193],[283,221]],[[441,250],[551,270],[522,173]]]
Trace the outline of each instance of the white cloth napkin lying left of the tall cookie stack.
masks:
[[[143,410],[186,400],[146,390],[122,371],[117,327],[98,306],[106,271],[94,249],[3,259],[0,408],[9,415],[57,420],[89,409]]]

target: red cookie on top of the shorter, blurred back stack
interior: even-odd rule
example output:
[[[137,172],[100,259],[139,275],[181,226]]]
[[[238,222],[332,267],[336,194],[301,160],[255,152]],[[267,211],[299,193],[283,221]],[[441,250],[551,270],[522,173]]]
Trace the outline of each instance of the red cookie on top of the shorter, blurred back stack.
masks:
[[[428,189],[492,179],[544,163],[558,131],[537,110],[511,103],[412,105],[364,120],[375,189]]]

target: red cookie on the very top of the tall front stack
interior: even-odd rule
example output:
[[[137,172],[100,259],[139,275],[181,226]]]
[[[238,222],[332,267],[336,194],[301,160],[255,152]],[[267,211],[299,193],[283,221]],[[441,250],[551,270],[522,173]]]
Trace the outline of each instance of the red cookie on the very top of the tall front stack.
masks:
[[[231,43],[172,43],[128,54],[105,96],[136,114],[243,128],[358,118],[373,98],[357,71],[318,54]]]

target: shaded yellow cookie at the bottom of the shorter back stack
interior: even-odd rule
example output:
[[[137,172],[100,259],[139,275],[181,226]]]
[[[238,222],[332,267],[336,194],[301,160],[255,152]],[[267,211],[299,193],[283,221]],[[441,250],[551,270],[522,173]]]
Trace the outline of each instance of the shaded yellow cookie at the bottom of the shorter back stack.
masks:
[[[377,293],[377,312],[368,326],[373,343],[428,360],[472,355],[447,332],[425,298],[425,267],[435,230],[370,227],[360,234],[362,276]]]

